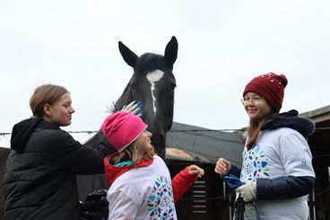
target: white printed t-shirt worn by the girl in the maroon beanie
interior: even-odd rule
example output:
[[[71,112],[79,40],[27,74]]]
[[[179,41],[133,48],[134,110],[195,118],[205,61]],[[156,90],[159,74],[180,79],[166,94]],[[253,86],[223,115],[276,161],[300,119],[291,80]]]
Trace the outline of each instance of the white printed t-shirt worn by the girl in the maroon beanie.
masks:
[[[262,131],[256,145],[243,151],[240,180],[275,179],[282,176],[315,178],[306,139],[291,128]],[[258,200],[260,219],[308,219],[307,196],[281,200]]]

